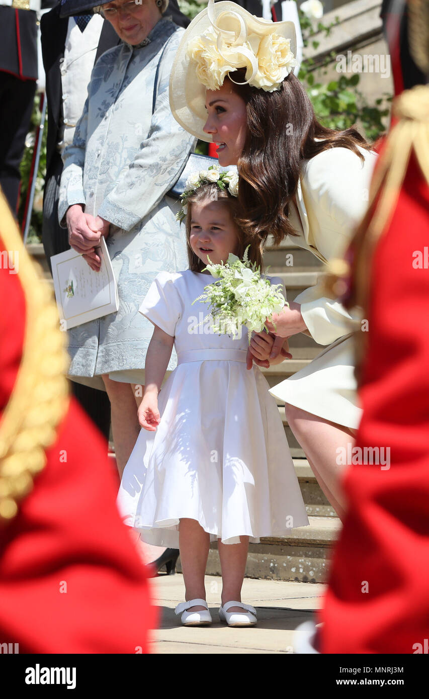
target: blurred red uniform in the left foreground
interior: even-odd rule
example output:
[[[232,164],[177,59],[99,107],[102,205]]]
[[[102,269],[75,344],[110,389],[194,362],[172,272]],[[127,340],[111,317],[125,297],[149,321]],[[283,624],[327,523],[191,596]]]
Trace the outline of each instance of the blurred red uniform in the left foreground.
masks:
[[[29,334],[21,270],[32,263],[17,229],[10,232],[12,224],[0,195],[0,253],[20,255],[18,274],[0,257],[0,454]],[[36,396],[30,393],[26,401],[31,406]],[[0,643],[19,643],[20,653],[148,651],[155,610],[143,565],[116,510],[107,452],[75,399],[66,398],[43,470],[15,517],[0,519]]]

